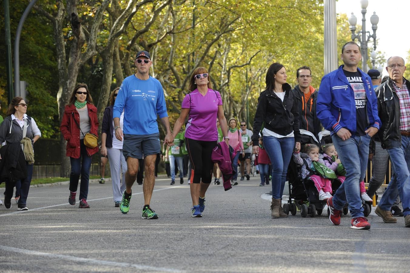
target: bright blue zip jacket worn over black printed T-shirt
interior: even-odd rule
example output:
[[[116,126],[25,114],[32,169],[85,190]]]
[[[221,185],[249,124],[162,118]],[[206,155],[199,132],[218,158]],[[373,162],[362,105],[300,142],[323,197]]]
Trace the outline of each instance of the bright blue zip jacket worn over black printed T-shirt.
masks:
[[[369,75],[362,75],[364,89],[367,97],[367,128],[380,127],[380,118],[377,111],[377,98],[371,84]],[[343,72],[343,65],[339,69],[324,75],[317,95],[317,117],[330,134],[335,134],[342,128],[348,129],[351,133],[356,132],[356,105],[351,84],[348,82]]]

